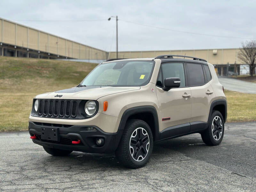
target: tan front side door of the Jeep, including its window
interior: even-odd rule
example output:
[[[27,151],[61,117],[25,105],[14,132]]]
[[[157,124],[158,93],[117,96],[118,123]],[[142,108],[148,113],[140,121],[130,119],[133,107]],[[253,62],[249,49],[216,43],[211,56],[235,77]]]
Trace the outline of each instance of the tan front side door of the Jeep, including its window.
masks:
[[[179,77],[180,87],[164,91],[164,79]],[[157,83],[156,96],[159,103],[159,131],[165,132],[165,137],[172,137],[189,132],[191,117],[191,90],[185,87],[185,72],[183,63],[162,63]]]

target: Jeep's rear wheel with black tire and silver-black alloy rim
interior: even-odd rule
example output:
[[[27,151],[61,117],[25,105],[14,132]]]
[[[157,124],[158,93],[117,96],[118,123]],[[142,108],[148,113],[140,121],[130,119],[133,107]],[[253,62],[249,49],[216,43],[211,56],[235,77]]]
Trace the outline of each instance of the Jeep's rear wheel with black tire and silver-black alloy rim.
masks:
[[[224,136],[224,120],[220,111],[213,111],[207,129],[201,133],[206,145],[219,145]]]

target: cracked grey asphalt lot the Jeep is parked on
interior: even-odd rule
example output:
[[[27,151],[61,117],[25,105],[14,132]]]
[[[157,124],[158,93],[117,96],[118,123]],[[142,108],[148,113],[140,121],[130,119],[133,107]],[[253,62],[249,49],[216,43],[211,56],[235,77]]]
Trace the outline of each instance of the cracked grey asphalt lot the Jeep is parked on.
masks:
[[[199,134],[154,143],[148,164],[114,154],[48,155],[28,132],[0,133],[0,191],[256,191],[256,122],[227,123],[219,146]]]

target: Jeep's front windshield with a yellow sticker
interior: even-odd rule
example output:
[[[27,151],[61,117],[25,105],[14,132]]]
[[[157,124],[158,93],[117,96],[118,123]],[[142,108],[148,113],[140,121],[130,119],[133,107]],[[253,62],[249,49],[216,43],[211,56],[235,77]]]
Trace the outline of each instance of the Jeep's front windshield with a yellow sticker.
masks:
[[[98,65],[80,85],[142,86],[148,84],[155,61],[115,61]]]

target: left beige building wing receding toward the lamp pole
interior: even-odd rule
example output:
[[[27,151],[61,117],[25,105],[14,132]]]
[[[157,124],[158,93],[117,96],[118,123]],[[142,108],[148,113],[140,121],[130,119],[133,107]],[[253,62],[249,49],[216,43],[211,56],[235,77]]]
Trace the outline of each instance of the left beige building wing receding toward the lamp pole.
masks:
[[[107,52],[0,18],[0,55],[105,59]]]

